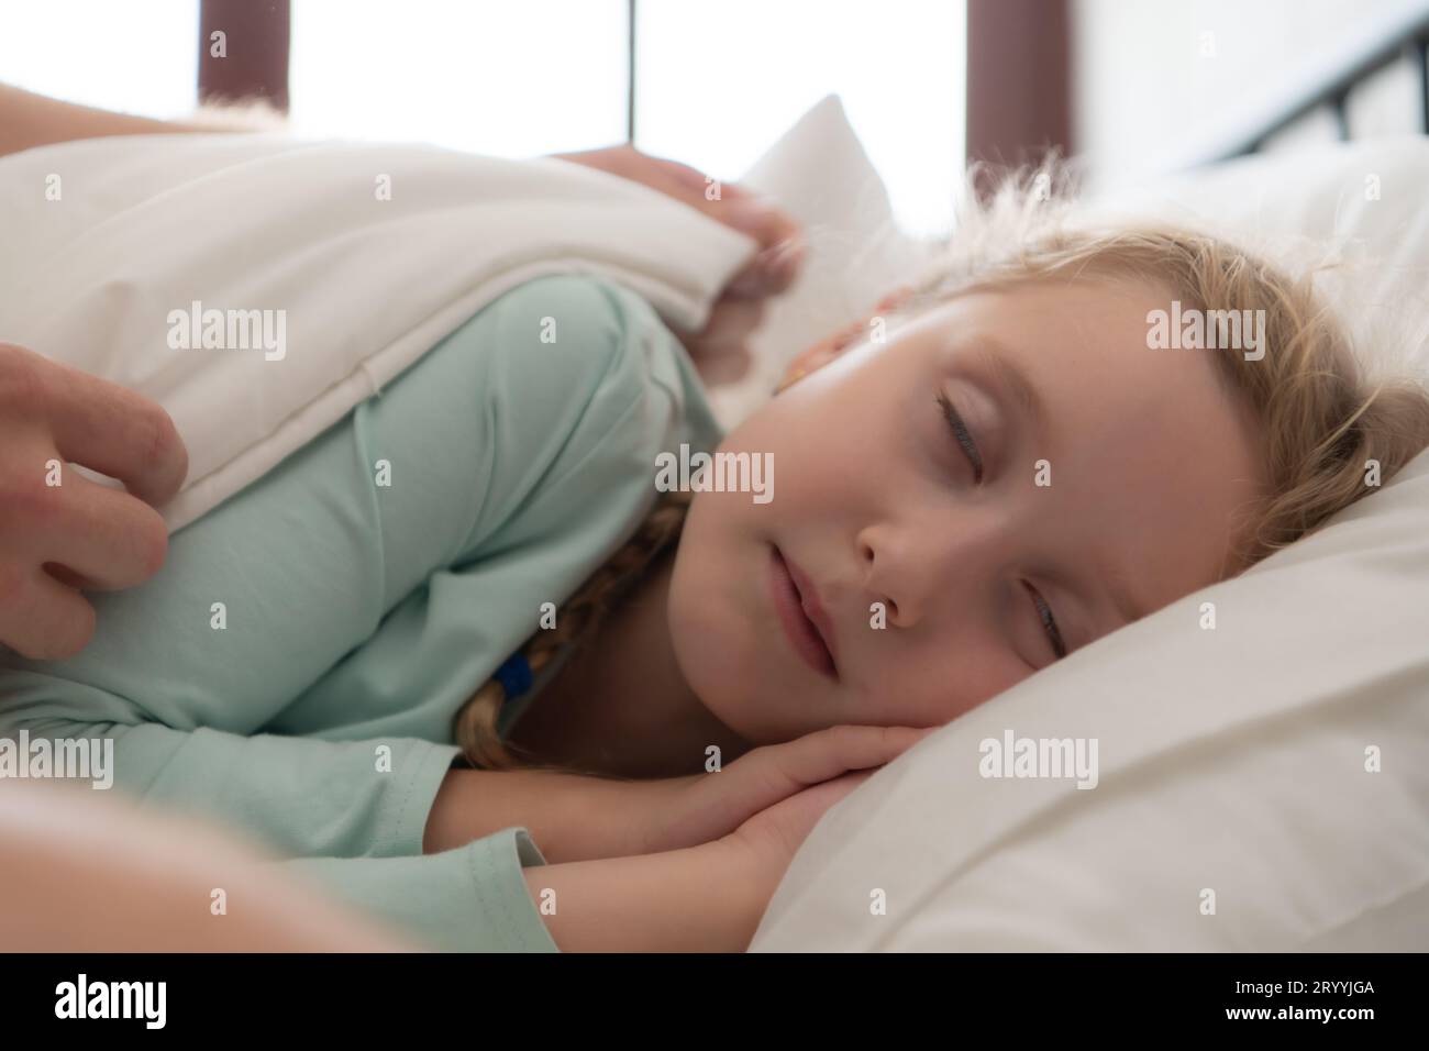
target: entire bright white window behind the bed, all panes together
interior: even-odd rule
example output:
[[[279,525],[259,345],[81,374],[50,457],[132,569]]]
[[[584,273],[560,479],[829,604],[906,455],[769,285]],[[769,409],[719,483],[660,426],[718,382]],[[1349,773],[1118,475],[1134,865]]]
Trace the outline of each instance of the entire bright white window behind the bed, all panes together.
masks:
[[[293,0],[299,134],[536,156],[622,142],[626,0]],[[636,144],[737,179],[837,93],[905,226],[962,170],[965,0],[639,0]],[[0,4],[0,80],[106,109],[194,106],[199,0]]]

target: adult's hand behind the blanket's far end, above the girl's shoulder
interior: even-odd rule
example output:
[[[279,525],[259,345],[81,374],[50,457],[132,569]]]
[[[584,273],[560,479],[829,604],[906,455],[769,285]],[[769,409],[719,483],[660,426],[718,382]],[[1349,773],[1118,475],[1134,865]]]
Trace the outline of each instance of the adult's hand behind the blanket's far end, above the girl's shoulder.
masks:
[[[729,383],[752,363],[747,339],[765,316],[765,300],[787,289],[803,263],[799,224],[767,199],[735,184],[719,186],[689,164],[652,157],[633,146],[607,146],[582,153],[553,154],[659,190],[759,242],[759,255],[725,287],[700,332],[677,333],[706,383]]]

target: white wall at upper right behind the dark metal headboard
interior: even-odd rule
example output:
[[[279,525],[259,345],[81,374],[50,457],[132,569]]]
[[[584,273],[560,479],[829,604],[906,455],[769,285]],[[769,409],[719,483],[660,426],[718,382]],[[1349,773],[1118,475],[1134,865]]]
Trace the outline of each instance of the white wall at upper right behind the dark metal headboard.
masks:
[[[1077,152],[1100,183],[1179,167],[1253,126],[1356,41],[1426,7],[1426,0],[1073,0]],[[1386,100],[1393,113],[1352,107],[1356,134],[1359,124],[1410,130],[1418,119],[1409,69],[1386,80],[1395,90],[1386,83],[1365,97]]]

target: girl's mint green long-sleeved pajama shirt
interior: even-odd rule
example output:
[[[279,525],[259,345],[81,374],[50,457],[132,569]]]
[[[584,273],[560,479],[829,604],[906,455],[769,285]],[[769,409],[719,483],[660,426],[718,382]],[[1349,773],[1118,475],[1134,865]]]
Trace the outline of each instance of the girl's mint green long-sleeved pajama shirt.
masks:
[[[552,951],[527,829],[422,854],[452,719],[634,529],[656,455],[719,436],[643,299],[532,280],[176,532],[150,582],[91,593],[79,656],[0,648],[0,735],[110,736],[120,791],[256,838],[434,948]]]

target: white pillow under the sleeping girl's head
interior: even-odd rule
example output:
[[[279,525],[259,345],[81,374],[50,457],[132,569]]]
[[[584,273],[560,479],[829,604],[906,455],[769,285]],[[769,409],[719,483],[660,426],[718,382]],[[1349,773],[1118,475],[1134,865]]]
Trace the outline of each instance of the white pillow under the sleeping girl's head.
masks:
[[[809,187],[775,194],[796,213],[830,186],[827,169],[807,172]],[[1365,199],[1369,174],[1379,200]],[[1349,319],[1412,339],[1429,332],[1426,183],[1429,143],[1385,142],[1239,162],[1142,203],[1210,216],[1286,257],[1292,235],[1348,240],[1382,263],[1336,292]],[[795,295],[867,300],[879,282]],[[775,319],[800,340],[853,316],[800,332],[805,303]],[[1429,453],[1316,536],[879,771],[805,842],[750,951],[1429,947],[1426,595]],[[1096,786],[982,776],[982,742],[1009,732],[1096,739]]]

